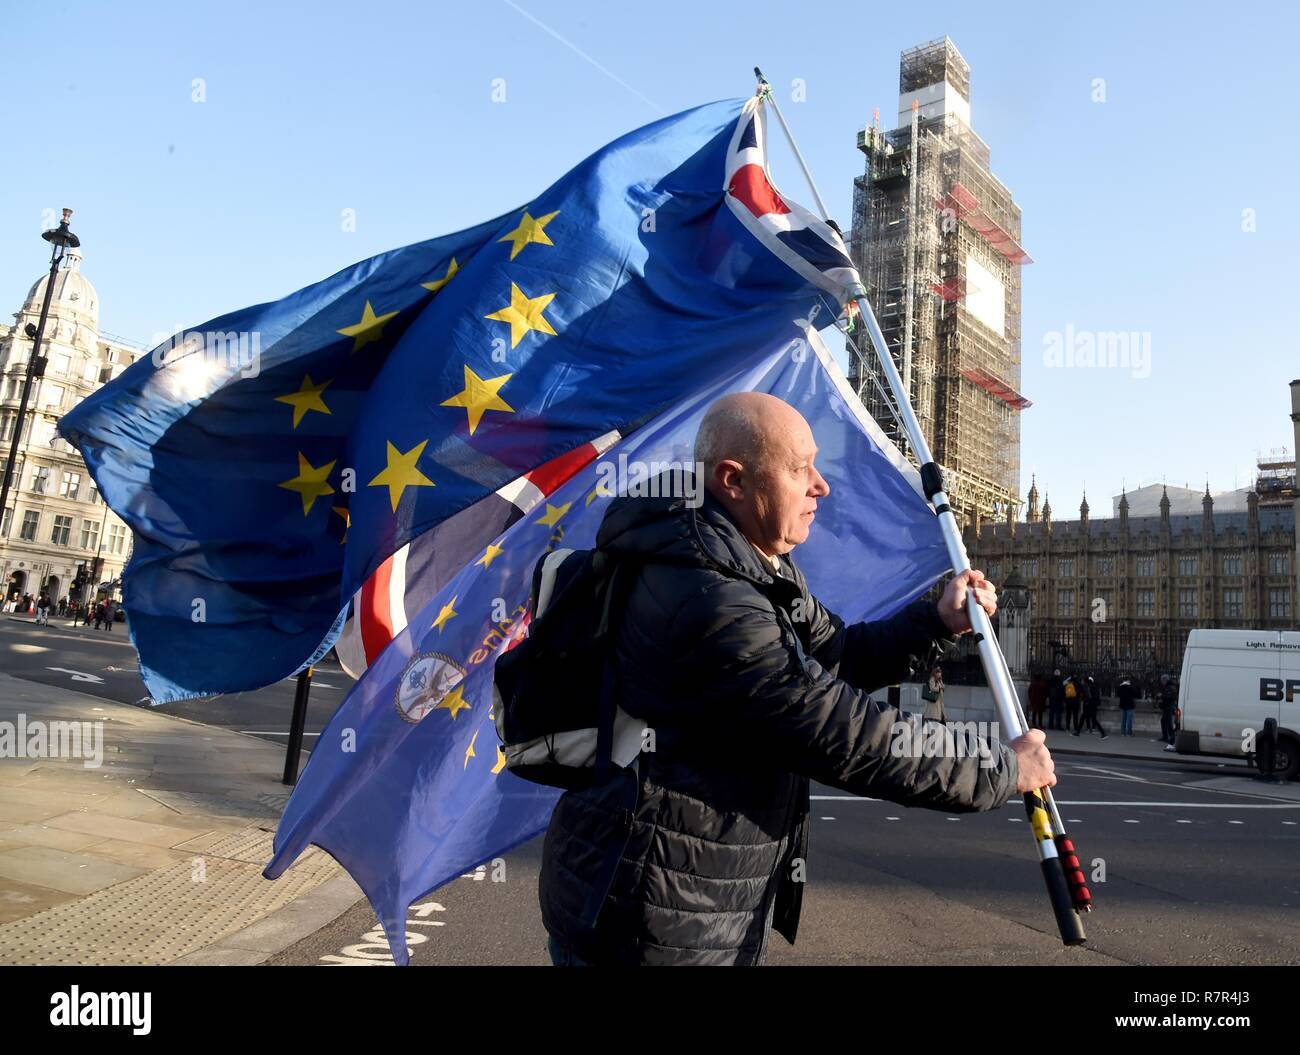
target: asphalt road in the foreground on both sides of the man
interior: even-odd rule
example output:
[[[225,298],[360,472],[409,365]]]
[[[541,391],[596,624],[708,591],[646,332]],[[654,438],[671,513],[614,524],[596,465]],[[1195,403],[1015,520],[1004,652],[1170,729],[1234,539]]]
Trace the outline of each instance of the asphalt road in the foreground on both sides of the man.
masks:
[[[1065,948],[1019,800],[945,815],[814,786],[809,889],[781,964],[1300,963],[1300,789],[1243,767],[1060,757],[1057,800],[1089,873],[1088,945]],[[541,838],[408,916],[413,965],[547,964]],[[500,878],[498,871],[498,878]],[[390,964],[364,902],[273,964]]]

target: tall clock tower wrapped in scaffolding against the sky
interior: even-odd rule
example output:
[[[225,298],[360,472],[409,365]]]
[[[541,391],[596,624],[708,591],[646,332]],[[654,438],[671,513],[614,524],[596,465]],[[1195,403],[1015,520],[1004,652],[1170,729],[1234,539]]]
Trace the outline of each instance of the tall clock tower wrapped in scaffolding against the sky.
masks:
[[[1020,212],[957,112],[953,92],[970,101],[970,68],[953,42],[905,51],[898,88],[914,94],[911,121],[883,131],[876,110],[858,134],[866,170],[854,181],[850,249],[953,505],[1001,518],[1020,505],[1019,413],[1031,405],[1018,391],[1020,268],[1032,262]],[[867,409],[906,450],[872,378],[879,366],[868,357],[850,368]]]

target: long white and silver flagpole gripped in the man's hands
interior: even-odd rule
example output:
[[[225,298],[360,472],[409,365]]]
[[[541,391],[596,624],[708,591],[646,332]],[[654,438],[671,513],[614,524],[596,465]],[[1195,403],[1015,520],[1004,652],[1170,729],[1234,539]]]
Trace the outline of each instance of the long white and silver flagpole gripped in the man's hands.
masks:
[[[818,192],[816,183],[812,179],[811,172],[809,172],[803,155],[794,143],[794,135],[790,133],[789,125],[785,123],[781,108],[772,95],[771,84],[768,84],[767,78],[763,77],[758,66],[754,68],[754,74],[758,77],[758,95],[764,103],[772,107],[772,112],[776,114],[776,120],[785,133],[785,139],[789,142],[800,168],[803,170],[803,178],[812,191],[812,197],[816,200],[822,218],[838,233],[840,229],[831,220],[831,214],[822,200],[822,195]],[[885,375],[885,382],[893,392],[894,405],[904,431],[907,434],[913,453],[920,465],[922,487],[939,518],[939,528],[944,537],[948,557],[953,565],[953,573],[961,574],[962,572],[967,572],[971,566],[970,557],[966,553],[966,544],[962,542],[957,516],[944,491],[942,470],[931,455],[930,444],[926,442],[920,422],[911,408],[911,400],[904,388],[898,368],[894,365],[893,356],[889,355],[880,324],[876,321],[876,314],[867,300],[867,290],[862,285],[861,275],[853,283],[850,296],[858,305],[859,318],[867,330],[867,335],[871,338],[871,344],[875,348],[880,369]],[[1026,730],[1024,711],[1020,707],[1015,686],[1011,683],[1006,659],[1002,656],[1002,650],[993,633],[993,624],[976,600],[974,590],[966,591],[966,612],[970,617],[971,630],[975,634],[975,642],[979,646],[980,661],[984,667],[989,691],[993,695],[993,703],[997,707],[998,720],[1002,724],[1002,729],[1006,730],[1008,739],[1015,739]],[[1027,791],[1024,794],[1024,808],[1028,813],[1035,846],[1039,851],[1043,880],[1048,889],[1048,898],[1052,902],[1052,911],[1056,915],[1057,929],[1061,932],[1061,941],[1066,945],[1083,945],[1087,941],[1087,935],[1083,930],[1080,912],[1091,911],[1092,898],[1088,893],[1083,871],[1079,867],[1074,845],[1066,837],[1065,828],[1061,824],[1061,815],[1056,808],[1052,790],[1043,787],[1037,791]]]

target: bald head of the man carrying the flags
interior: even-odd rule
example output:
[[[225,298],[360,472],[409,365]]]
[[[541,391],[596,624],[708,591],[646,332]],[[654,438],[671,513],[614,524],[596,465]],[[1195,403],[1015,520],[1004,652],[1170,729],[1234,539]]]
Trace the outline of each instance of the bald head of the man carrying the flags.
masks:
[[[723,396],[696,437],[705,486],[768,556],[807,539],[816,499],[831,490],[812,466],[815,456],[803,416],[764,392]]]

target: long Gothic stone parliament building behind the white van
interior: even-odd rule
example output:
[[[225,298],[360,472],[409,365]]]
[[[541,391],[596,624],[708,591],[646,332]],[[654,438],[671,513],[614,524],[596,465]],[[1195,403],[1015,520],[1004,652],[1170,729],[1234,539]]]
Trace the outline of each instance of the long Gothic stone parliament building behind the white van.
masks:
[[[1300,381],[1291,404],[1300,443]],[[1084,496],[1078,520],[1054,521],[1035,481],[1024,521],[974,518],[965,542],[1000,605],[1027,605],[1030,669],[1176,674],[1195,628],[1297,629],[1297,504],[1296,463],[1280,459],[1238,491],[1122,494],[1109,518]]]

